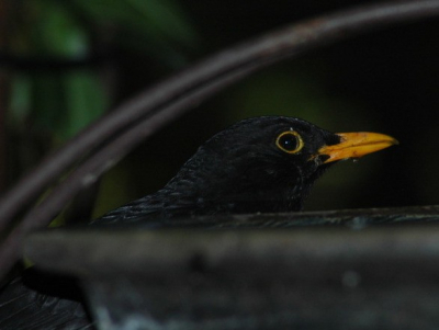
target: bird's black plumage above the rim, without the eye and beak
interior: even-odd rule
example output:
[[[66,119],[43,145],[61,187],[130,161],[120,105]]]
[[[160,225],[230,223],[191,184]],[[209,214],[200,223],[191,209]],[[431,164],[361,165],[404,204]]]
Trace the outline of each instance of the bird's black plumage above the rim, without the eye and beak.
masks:
[[[277,146],[285,132],[300,134],[301,150],[291,153]],[[314,156],[324,145],[339,141],[336,134],[297,118],[245,120],[201,146],[164,189],[94,223],[299,210],[314,181],[330,166],[323,163],[326,155]]]

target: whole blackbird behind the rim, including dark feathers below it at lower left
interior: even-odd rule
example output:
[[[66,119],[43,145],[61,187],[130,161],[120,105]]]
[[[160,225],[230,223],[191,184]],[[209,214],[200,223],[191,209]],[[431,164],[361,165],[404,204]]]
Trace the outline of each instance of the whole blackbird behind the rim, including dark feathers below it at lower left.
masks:
[[[300,210],[315,180],[336,161],[396,143],[375,133],[334,134],[293,117],[248,118],[209,139],[165,187],[92,225]],[[2,289],[0,328],[92,327],[75,286],[66,278],[44,276],[27,271]],[[74,289],[66,293],[69,287]]]

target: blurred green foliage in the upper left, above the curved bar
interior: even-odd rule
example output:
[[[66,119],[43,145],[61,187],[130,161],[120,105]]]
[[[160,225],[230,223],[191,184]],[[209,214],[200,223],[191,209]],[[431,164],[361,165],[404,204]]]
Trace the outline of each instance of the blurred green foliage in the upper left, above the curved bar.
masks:
[[[32,120],[35,130],[61,141],[113,102],[100,77],[102,67],[87,65],[94,52],[92,39],[101,38],[95,35],[99,29],[114,26],[124,37],[111,42],[126,46],[126,39],[136,39],[144,52],[169,66],[183,62],[184,57],[171,45],[192,46],[196,39],[183,13],[167,0],[27,0],[15,10],[23,25],[11,50],[35,59],[35,65],[12,78],[9,116],[14,124]],[[83,66],[69,67],[70,61],[81,60]]]

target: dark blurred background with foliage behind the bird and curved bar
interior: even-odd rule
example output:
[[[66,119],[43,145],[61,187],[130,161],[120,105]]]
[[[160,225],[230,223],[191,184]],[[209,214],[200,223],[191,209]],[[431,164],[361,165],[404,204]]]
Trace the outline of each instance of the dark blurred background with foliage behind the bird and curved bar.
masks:
[[[284,25],[372,2],[0,3],[4,190],[89,122],[198,60]],[[334,167],[317,182],[306,209],[436,204],[438,39],[437,19],[394,25],[239,81],[110,170],[94,215],[162,186],[217,130],[269,114],[299,116],[333,132],[380,132],[401,143]]]

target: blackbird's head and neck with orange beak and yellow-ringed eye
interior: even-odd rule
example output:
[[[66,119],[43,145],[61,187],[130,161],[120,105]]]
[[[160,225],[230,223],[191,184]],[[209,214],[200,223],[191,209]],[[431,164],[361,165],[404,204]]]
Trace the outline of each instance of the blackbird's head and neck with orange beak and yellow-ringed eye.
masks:
[[[335,161],[393,144],[382,134],[333,134],[292,117],[249,118],[201,146],[159,195],[165,208],[190,214],[299,210]]]

